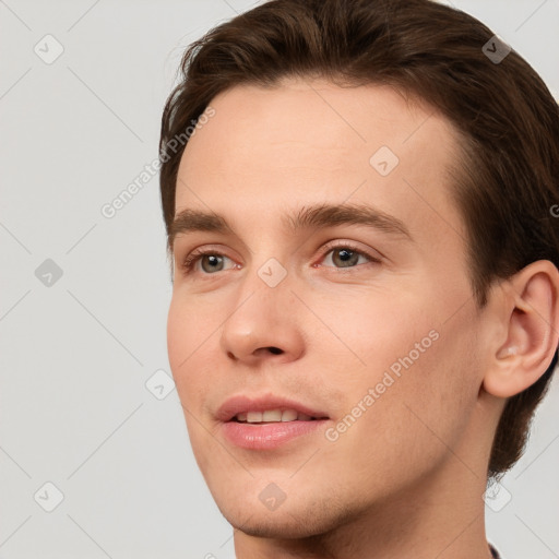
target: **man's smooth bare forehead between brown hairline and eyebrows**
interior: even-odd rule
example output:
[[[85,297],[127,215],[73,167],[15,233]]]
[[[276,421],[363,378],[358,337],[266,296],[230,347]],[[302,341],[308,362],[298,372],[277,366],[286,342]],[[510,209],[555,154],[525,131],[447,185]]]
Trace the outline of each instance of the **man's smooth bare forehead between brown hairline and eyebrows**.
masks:
[[[236,86],[210,105],[214,116],[180,162],[177,212],[254,224],[266,215],[270,225],[275,215],[281,223],[281,209],[349,201],[395,215],[412,231],[464,237],[449,191],[457,134],[429,105],[388,86],[318,80]]]

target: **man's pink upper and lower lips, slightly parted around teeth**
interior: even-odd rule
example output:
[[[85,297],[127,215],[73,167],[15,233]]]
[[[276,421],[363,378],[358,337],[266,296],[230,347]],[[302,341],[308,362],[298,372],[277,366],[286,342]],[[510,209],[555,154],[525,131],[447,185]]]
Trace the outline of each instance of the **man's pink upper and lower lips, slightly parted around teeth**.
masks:
[[[317,417],[309,421],[277,421],[247,424],[233,420],[237,414],[265,412],[266,409],[295,409]],[[310,435],[324,427],[328,415],[307,405],[280,396],[249,397],[238,395],[227,400],[217,411],[224,437],[236,447],[251,450],[272,450],[297,437]]]

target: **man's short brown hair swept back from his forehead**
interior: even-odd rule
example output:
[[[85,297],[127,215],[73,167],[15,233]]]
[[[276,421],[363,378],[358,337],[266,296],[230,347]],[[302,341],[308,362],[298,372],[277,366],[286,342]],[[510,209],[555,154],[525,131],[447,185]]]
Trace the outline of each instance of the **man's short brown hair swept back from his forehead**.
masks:
[[[487,56],[486,45],[507,52],[495,41],[476,19],[430,0],[272,0],[213,28],[185,52],[181,81],[163,114],[160,192],[168,239],[185,148],[170,154],[171,140],[214,96],[237,84],[267,87],[283,78],[320,76],[395,86],[453,123],[463,157],[452,194],[466,224],[480,308],[493,281],[536,260],[558,266],[550,209],[559,201],[559,108],[514,50],[500,61]],[[521,456],[556,364],[557,352],[537,382],[508,400],[489,477]]]

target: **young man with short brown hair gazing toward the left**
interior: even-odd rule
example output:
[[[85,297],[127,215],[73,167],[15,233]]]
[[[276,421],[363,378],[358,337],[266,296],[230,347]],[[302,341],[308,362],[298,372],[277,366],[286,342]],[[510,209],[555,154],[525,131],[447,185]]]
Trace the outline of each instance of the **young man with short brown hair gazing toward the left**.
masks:
[[[182,70],[169,361],[237,557],[498,557],[481,495],[557,361],[548,90],[428,0],[266,2]]]

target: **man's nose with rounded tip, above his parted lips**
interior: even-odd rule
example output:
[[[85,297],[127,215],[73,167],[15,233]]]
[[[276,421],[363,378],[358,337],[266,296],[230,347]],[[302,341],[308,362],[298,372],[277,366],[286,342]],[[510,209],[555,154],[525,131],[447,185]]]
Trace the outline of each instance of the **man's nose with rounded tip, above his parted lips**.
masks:
[[[287,281],[275,287],[258,276],[247,282],[223,325],[226,356],[249,366],[298,359],[305,350],[298,302]]]

